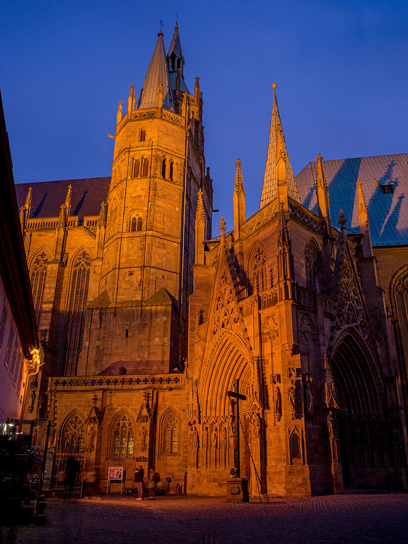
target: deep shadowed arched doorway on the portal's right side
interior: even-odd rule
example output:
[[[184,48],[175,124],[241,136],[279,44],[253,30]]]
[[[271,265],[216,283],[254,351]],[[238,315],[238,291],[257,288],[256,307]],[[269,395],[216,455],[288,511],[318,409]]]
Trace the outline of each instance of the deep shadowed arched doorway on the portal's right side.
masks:
[[[384,440],[384,384],[375,362],[352,333],[343,336],[331,357],[337,386],[340,460],[345,488],[381,485],[378,472],[389,463]]]

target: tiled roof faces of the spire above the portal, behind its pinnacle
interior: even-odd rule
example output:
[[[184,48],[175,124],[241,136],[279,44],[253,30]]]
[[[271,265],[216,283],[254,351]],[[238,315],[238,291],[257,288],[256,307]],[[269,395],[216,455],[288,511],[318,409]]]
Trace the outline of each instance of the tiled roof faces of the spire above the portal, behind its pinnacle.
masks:
[[[269,130],[269,143],[267,153],[267,163],[265,165],[265,175],[263,178],[261,202],[259,203],[259,209],[263,208],[269,202],[273,201],[277,196],[277,176],[275,169],[275,153],[278,143],[278,132],[281,133],[283,151],[286,153],[286,180],[288,187],[288,195],[300,202],[298,188],[293,176],[292,166],[290,166],[289,156],[286,149],[285,137],[283,136],[282,123],[279,115],[279,109],[277,107],[276,92],[274,89],[274,103],[272,107],[272,115],[270,119]]]

